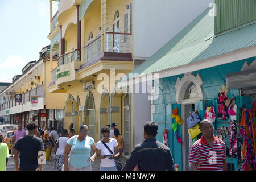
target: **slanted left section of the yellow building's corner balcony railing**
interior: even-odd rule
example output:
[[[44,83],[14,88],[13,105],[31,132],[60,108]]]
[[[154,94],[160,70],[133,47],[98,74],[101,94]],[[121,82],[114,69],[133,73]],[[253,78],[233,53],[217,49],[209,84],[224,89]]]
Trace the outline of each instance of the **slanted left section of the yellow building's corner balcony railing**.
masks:
[[[82,64],[100,55],[101,36],[99,36],[98,38],[94,39],[92,42],[87,44],[84,48],[82,48],[82,51],[84,52],[84,60],[82,61]]]

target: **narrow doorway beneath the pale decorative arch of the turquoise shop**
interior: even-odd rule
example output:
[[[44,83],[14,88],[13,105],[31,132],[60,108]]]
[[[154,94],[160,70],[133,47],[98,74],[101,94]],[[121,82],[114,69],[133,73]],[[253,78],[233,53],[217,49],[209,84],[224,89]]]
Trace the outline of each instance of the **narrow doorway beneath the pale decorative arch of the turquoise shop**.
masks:
[[[182,163],[183,171],[189,171],[188,157],[191,150],[191,138],[188,134],[188,122],[187,119],[191,115],[191,111],[195,109],[195,104],[181,105],[181,115],[183,118],[183,125],[181,126],[182,140],[184,145],[182,146]]]

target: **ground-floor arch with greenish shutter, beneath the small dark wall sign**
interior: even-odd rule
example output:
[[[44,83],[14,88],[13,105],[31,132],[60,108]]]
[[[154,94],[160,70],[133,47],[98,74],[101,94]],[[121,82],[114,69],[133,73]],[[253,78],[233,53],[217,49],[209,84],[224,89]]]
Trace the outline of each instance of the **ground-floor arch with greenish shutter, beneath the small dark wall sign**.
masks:
[[[85,125],[88,126],[89,136],[95,139],[96,137],[96,111],[95,111],[95,103],[92,92],[88,91],[88,95],[85,100],[84,107],[84,118]]]

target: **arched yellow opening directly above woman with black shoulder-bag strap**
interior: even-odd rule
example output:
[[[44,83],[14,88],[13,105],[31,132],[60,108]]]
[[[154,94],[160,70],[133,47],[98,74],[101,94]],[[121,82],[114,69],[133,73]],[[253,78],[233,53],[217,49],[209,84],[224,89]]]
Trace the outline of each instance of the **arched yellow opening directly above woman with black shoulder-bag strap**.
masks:
[[[106,126],[108,124],[110,124],[110,98],[108,91],[105,89],[104,93],[101,95],[100,129],[102,126]]]

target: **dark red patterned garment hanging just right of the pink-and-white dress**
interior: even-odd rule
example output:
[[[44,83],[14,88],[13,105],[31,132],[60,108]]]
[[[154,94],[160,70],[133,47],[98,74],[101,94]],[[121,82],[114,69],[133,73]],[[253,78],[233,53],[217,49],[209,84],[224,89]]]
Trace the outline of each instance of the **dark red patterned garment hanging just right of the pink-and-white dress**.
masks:
[[[225,106],[225,102],[228,98],[225,95],[225,92],[218,93],[218,119],[220,120],[228,120],[228,107]]]

